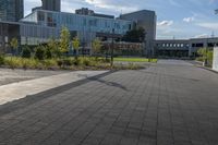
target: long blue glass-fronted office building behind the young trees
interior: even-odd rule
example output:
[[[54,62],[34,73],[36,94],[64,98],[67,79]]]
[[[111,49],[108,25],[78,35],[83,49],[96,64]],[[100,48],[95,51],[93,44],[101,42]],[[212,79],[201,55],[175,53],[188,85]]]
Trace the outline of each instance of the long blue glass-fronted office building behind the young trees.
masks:
[[[21,44],[37,45],[50,38],[59,39],[60,31],[68,27],[71,36],[77,36],[85,47],[100,34],[109,36],[114,28],[116,35],[124,35],[132,28],[131,21],[80,15],[74,13],[38,10],[21,21]]]

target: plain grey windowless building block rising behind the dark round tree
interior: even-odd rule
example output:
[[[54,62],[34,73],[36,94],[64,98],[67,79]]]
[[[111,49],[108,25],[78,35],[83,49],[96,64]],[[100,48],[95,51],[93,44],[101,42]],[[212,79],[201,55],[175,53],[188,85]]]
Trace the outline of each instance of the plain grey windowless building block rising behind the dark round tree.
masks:
[[[156,22],[157,16],[155,11],[142,10],[133,13],[121,14],[121,20],[128,20],[135,23],[136,27],[143,27],[146,32],[145,36],[145,55],[155,55],[155,39],[156,39]]]

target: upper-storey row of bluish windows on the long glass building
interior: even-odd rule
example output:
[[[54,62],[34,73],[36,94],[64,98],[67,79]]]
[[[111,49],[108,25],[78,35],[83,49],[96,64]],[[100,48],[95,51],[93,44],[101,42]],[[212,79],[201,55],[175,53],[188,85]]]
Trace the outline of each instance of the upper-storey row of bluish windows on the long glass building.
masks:
[[[131,22],[119,21],[112,19],[82,16],[66,13],[51,13],[38,11],[38,22],[44,22],[47,26],[57,27],[62,25],[80,26],[80,27],[96,27],[99,29],[111,29],[126,32],[131,28]]]

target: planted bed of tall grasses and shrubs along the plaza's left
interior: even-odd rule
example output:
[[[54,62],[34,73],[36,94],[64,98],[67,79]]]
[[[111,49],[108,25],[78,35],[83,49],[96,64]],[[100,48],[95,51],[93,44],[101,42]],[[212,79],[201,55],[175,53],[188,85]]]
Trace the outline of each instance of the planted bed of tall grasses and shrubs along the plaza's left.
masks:
[[[105,58],[95,57],[62,57],[38,60],[35,58],[0,57],[0,67],[10,69],[32,70],[137,70],[144,65],[135,63],[114,64]]]

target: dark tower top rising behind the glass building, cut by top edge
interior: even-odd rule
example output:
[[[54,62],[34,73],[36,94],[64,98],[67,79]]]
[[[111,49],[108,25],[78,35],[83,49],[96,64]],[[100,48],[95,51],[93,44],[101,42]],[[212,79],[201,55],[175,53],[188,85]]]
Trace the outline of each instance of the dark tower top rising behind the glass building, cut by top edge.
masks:
[[[61,0],[41,0],[43,10],[61,11]]]

